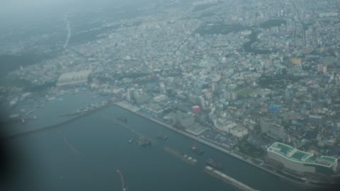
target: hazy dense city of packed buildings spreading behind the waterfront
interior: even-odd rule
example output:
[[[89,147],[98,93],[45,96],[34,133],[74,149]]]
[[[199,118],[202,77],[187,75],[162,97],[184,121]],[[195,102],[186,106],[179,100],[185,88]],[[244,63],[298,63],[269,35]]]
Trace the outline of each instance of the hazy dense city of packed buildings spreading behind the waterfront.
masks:
[[[86,29],[74,26],[77,11],[66,13],[53,45],[42,45],[57,37],[46,33],[0,47],[45,55],[8,69],[1,109],[8,121],[29,122],[45,102],[87,90],[292,181],[334,183],[339,8],[336,0],[154,0],[135,16],[88,18]],[[22,102],[33,107],[11,112]]]

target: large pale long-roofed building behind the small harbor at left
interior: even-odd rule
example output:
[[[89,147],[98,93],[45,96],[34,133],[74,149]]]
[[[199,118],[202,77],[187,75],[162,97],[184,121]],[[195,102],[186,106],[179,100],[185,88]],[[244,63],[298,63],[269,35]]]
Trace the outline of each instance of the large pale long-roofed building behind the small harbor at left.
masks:
[[[77,83],[86,83],[89,75],[91,74],[91,70],[81,70],[74,72],[67,72],[57,79],[57,86],[65,86],[69,84],[77,84]]]

